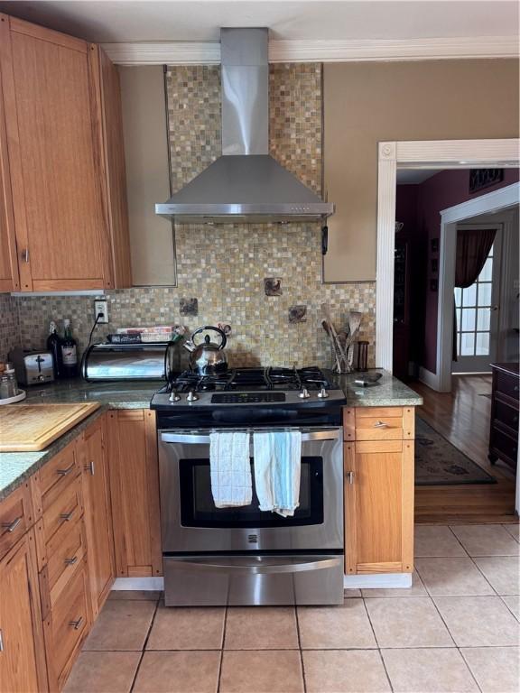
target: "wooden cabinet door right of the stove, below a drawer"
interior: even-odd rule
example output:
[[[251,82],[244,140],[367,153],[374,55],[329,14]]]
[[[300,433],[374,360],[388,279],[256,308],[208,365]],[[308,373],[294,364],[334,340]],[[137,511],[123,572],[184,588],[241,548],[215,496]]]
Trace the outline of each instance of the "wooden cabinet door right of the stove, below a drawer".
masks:
[[[413,440],[345,444],[347,573],[413,570]]]

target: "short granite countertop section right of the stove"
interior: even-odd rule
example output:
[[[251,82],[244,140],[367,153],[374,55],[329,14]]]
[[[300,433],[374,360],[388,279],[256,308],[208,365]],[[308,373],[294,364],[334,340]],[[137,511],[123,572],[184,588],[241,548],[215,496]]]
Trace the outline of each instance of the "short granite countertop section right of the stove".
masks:
[[[383,377],[375,385],[360,387],[354,383],[358,373],[332,376],[345,393],[349,407],[417,407],[422,404],[421,395],[383,368],[368,372],[382,373]]]

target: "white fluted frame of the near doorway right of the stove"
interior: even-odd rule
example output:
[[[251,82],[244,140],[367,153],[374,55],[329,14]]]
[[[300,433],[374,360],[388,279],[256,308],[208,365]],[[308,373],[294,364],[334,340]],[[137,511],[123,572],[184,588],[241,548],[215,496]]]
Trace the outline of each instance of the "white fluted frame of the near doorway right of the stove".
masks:
[[[517,167],[520,165],[520,140],[517,138],[423,140],[380,142],[378,146],[376,366],[392,372],[397,167],[412,169]],[[441,292],[439,295],[441,296]]]

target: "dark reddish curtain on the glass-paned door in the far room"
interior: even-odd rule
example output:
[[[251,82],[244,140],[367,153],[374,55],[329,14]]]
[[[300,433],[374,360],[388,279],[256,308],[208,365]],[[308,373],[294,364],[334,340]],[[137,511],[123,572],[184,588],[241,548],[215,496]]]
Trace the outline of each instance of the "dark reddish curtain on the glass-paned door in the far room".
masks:
[[[468,289],[477,281],[496,235],[496,228],[485,230],[460,228],[457,231],[456,288]],[[453,310],[453,361],[457,361],[457,311],[455,309]]]

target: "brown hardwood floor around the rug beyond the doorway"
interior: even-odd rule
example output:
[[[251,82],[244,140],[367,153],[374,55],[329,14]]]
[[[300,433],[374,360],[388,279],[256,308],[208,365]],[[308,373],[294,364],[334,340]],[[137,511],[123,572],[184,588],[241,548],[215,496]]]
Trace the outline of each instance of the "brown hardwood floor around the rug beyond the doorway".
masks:
[[[457,375],[451,393],[411,383],[424,404],[418,413],[433,429],[497,478],[493,485],[417,486],[415,522],[515,522],[515,477],[501,462],[487,459],[490,375]]]

